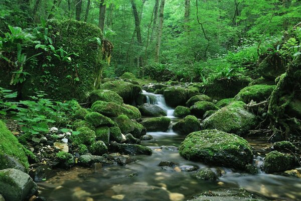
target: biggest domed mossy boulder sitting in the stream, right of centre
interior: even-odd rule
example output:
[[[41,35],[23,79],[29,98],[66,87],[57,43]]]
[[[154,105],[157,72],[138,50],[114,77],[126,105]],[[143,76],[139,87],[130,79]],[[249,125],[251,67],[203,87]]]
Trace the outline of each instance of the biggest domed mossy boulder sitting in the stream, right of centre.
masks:
[[[253,160],[253,149],[246,140],[216,129],[189,134],[179,152],[188,160],[235,169],[245,169]]]

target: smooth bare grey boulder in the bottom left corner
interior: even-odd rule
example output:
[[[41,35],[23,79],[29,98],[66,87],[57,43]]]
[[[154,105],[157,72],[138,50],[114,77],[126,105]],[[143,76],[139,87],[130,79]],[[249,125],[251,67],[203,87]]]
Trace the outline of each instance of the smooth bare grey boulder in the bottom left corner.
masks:
[[[38,192],[38,186],[26,173],[16,169],[0,170],[0,194],[6,201],[29,199]]]

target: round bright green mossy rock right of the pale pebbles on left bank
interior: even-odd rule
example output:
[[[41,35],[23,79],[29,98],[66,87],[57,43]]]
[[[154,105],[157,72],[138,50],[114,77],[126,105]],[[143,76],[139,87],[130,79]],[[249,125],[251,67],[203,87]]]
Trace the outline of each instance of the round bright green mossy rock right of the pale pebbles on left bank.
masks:
[[[89,129],[88,127],[81,127],[76,129],[80,133],[77,135],[72,135],[73,143],[76,145],[85,144],[91,145],[95,142],[95,132]]]

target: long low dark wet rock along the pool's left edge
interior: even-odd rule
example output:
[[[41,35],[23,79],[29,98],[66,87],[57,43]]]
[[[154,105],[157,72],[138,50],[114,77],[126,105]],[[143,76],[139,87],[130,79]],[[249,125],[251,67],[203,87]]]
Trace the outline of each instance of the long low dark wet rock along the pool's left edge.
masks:
[[[136,144],[118,144],[116,142],[112,142],[110,149],[122,154],[152,155],[152,149]]]

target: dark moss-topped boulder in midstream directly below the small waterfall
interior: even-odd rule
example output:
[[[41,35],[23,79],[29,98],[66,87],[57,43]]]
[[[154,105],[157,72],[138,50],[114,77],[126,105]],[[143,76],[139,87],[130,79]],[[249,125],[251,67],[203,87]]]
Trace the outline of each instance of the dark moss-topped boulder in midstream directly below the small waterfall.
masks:
[[[167,117],[154,117],[154,118],[143,120],[141,122],[141,125],[143,125],[146,128],[147,132],[156,132],[156,131],[166,132],[170,124],[171,124],[171,119]]]

